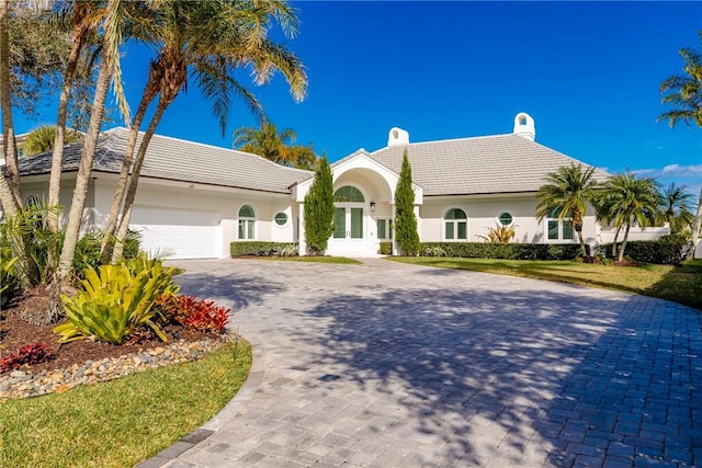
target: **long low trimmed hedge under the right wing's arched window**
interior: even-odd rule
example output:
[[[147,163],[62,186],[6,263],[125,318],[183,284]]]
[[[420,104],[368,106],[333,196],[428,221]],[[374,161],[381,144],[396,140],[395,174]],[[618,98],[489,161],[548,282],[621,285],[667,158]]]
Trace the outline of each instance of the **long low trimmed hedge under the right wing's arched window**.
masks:
[[[586,248],[589,251],[589,246]],[[419,254],[466,259],[573,260],[580,254],[580,246],[577,243],[422,242]]]

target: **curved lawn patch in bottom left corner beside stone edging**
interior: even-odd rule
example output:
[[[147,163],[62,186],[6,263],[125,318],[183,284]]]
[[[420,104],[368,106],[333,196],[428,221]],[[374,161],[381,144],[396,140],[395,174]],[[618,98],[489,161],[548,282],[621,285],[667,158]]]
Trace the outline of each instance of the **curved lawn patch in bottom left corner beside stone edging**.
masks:
[[[0,466],[133,467],[214,416],[244,385],[251,347],[60,395],[0,403]]]

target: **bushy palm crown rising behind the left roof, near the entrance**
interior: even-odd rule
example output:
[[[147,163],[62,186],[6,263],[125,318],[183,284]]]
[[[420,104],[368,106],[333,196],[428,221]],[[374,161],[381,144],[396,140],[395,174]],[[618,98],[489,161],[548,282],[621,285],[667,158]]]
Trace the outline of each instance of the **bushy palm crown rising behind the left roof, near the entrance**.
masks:
[[[234,147],[262,156],[278,164],[299,169],[314,169],[317,159],[310,146],[295,146],[292,128],[278,130],[272,122],[263,122],[260,128],[240,127],[234,132]]]

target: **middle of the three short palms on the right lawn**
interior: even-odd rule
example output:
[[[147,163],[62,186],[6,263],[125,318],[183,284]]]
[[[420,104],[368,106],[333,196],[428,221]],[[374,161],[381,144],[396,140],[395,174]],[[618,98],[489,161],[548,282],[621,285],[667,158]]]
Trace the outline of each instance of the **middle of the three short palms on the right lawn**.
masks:
[[[663,197],[658,192],[658,182],[650,178],[636,178],[632,172],[616,174],[610,178],[603,186],[609,194],[612,206],[615,206],[614,226],[624,228],[624,239],[619,249],[619,261],[624,259],[626,242],[631,227],[642,228],[656,222],[658,207]]]

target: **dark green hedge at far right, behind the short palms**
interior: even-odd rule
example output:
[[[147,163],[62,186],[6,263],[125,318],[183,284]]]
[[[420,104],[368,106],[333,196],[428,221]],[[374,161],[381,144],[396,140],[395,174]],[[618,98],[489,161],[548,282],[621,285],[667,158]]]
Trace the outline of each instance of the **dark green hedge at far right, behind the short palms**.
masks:
[[[618,250],[622,243],[616,242]],[[683,235],[663,236],[658,240],[632,240],[626,242],[624,256],[637,262],[665,264],[680,264],[692,251],[692,241]],[[612,244],[603,243],[596,248],[596,253],[612,258]]]

